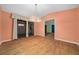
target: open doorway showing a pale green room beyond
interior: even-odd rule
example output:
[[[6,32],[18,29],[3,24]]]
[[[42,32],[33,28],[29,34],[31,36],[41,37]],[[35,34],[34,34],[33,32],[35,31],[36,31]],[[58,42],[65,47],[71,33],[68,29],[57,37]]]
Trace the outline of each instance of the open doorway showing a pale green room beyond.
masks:
[[[54,37],[54,33],[55,33],[54,19],[45,21],[45,36]]]

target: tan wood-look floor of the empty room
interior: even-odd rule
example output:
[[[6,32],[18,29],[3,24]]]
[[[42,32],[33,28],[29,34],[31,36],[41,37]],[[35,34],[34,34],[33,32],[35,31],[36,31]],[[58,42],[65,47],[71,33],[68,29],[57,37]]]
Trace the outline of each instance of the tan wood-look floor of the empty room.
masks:
[[[5,42],[1,55],[78,55],[79,46],[53,39],[53,36],[32,36]]]

